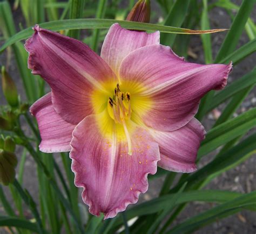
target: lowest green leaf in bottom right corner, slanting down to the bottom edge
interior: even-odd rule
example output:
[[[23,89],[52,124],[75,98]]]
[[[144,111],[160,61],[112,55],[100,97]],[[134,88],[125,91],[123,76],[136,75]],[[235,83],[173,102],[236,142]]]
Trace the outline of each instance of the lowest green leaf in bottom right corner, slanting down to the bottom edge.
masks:
[[[235,212],[244,209],[248,205],[255,205],[256,204],[256,191],[250,194],[244,194],[230,200],[224,204],[218,205],[210,210],[202,212],[201,214],[194,216],[192,218],[188,218],[185,222],[178,224],[169,232],[170,234],[174,233],[186,233],[186,232],[193,232],[207,224],[215,222],[220,218],[226,217],[228,215],[232,215]]]

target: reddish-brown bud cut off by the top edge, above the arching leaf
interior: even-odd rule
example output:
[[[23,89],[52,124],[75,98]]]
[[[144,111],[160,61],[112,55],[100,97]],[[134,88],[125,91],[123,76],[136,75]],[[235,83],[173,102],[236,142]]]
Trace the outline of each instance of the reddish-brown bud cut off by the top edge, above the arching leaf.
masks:
[[[126,20],[134,22],[150,22],[150,0],[139,0],[132,8]]]

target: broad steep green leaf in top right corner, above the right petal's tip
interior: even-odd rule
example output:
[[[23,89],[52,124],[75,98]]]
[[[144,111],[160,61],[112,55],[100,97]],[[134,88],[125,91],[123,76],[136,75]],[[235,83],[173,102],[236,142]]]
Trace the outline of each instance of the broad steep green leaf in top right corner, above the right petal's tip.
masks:
[[[220,47],[219,53],[215,59],[215,62],[219,62],[227,54],[234,52],[235,47],[238,44],[242,31],[244,31],[247,19],[250,17],[251,11],[253,10],[253,5],[256,0],[244,0],[240,6],[237,15],[231,25],[230,31],[228,31],[227,36]]]

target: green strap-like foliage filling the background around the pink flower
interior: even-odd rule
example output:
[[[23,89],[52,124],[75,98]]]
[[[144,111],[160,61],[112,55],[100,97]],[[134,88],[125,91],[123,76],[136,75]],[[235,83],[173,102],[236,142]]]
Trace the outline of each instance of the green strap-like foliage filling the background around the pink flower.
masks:
[[[49,87],[27,67],[28,53],[23,40],[31,36],[31,26],[41,24],[77,38],[99,53],[109,26],[115,20],[125,20],[135,3],[134,0],[0,1],[2,98],[6,99],[1,101],[0,175],[2,184],[8,186],[0,186],[1,233],[2,230],[6,233],[191,233],[241,210],[250,214],[256,211],[256,191],[238,193],[207,188],[212,180],[255,156],[256,108],[234,115],[255,91],[255,61],[250,70],[241,72],[224,90],[211,91],[201,100],[196,117],[205,121],[211,113],[214,118],[207,126],[206,139],[198,152],[198,171],[180,175],[158,168],[149,180],[164,180],[159,193],[149,201],[130,205],[113,219],[103,221],[103,216],[91,216],[79,201],[67,153],[53,155],[38,151],[39,132],[28,108]],[[255,17],[251,18],[255,3],[255,0],[243,0],[240,4],[231,0],[152,0],[153,24],[119,22],[128,29],[159,30],[161,44],[173,47],[174,52],[188,60],[226,64],[232,60],[235,70],[256,50]],[[184,30],[173,27],[208,30],[214,26],[212,11],[216,8],[227,13],[225,25],[230,30],[222,32],[223,37],[216,37],[217,47],[211,34],[197,37],[203,55],[200,59],[191,49],[193,37],[177,34]],[[241,43],[241,38],[246,40]],[[15,82],[9,74],[12,66],[15,66]],[[36,165],[36,178],[24,176],[25,163],[31,158]],[[202,163],[205,159],[207,164]],[[32,179],[38,185],[36,194],[33,187],[25,186]],[[187,219],[177,223],[186,205],[194,201],[216,205],[196,215],[188,214]]]

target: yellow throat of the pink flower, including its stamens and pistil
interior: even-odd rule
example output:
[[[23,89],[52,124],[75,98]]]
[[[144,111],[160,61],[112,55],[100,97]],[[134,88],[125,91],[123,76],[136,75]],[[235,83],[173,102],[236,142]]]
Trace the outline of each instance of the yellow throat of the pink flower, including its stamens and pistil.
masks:
[[[141,125],[141,118],[152,106],[151,98],[141,95],[145,89],[136,82],[106,82],[103,89],[95,89],[91,95],[100,132],[105,138],[111,139],[114,134],[119,142],[125,141],[130,155],[134,123]]]

